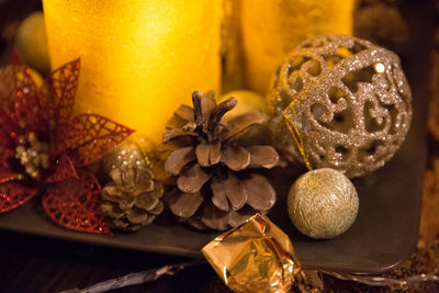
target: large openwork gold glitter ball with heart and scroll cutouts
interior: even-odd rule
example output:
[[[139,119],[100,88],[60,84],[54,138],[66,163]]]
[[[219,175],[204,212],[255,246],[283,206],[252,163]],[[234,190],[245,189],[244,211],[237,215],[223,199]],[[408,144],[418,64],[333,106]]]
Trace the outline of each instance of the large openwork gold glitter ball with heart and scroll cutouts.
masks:
[[[399,148],[412,121],[412,93],[394,53],[330,35],[290,54],[273,79],[268,110],[273,144],[288,159],[351,178],[382,167]]]

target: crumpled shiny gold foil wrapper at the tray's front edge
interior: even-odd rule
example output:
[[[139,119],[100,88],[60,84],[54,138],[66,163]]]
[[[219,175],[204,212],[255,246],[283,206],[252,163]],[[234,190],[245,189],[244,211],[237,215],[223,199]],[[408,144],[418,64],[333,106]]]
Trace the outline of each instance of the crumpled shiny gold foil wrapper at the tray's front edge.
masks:
[[[236,292],[289,292],[301,269],[290,238],[260,214],[217,236],[202,252]]]

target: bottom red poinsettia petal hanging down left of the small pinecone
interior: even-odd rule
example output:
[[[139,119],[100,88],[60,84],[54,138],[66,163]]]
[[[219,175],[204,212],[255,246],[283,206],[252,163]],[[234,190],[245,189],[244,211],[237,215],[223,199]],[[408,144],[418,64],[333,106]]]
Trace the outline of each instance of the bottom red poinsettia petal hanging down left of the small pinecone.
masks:
[[[101,212],[101,187],[90,173],[80,172],[47,188],[43,207],[56,224],[79,232],[110,233]]]

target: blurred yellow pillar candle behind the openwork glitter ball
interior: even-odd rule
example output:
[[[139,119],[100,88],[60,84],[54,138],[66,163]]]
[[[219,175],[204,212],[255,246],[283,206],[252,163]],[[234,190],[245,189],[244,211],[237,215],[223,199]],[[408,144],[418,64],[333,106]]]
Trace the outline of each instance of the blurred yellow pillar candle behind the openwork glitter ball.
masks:
[[[302,41],[351,34],[354,0],[243,0],[244,76],[247,88],[266,94],[270,77]]]

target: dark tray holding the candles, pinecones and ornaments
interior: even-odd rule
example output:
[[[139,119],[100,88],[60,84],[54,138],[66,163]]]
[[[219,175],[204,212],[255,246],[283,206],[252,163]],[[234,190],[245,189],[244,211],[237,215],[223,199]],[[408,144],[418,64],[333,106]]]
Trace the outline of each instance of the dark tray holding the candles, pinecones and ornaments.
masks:
[[[402,149],[386,166],[353,180],[360,195],[360,212],[353,226],[330,240],[313,240],[301,235],[288,218],[285,207],[288,190],[299,173],[274,170],[271,174],[278,190],[278,203],[269,216],[289,234],[304,268],[378,273],[401,263],[415,247],[426,160],[429,49],[432,36],[432,12],[430,5],[421,4],[424,2],[410,1],[407,10],[412,38],[407,54],[403,56],[403,68],[414,95],[412,128]],[[185,257],[201,257],[200,249],[217,235],[165,222],[134,234],[90,235],[52,224],[31,202],[0,215],[0,229]]]

